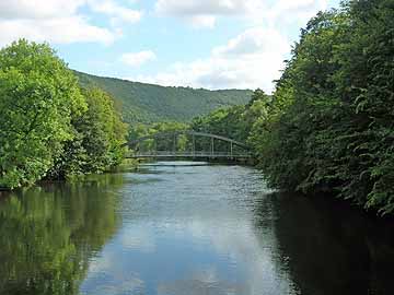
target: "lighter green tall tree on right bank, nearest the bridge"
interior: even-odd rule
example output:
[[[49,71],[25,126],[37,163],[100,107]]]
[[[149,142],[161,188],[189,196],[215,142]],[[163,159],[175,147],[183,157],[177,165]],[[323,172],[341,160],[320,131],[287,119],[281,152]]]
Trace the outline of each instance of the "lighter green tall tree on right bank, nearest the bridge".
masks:
[[[333,11],[309,22],[278,81],[269,115],[255,125],[251,141],[273,187],[298,190],[312,185],[310,174],[321,160],[312,141],[336,120],[338,99],[332,94],[331,76],[338,68],[333,48],[343,38],[341,21]]]

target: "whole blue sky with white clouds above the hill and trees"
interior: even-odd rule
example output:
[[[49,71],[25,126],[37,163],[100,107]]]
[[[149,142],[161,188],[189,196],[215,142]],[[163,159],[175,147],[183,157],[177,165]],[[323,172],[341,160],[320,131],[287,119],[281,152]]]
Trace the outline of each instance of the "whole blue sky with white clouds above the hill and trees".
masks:
[[[165,86],[274,90],[300,30],[339,0],[0,0],[0,47],[47,42],[71,69]]]

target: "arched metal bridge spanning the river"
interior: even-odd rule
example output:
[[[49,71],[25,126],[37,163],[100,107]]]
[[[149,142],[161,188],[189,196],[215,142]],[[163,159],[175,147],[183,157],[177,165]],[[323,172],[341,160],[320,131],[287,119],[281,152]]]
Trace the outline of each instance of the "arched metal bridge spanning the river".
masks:
[[[186,135],[192,138],[192,142],[188,142],[190,151],[178,151],[177,150],[177,139],[179,135]],[[210,146],[209,151],[197,151],[196,146],[201,145],[198,144],[201,141],[201,138],[209,139]],[[172,149],[167,149],[165,151],[157,151],[155,149],[150,151],[140,151],[139,144],[151,141],[151,140],[160,140],[160,139],[171,139]],[[221,142],[220,146],[217,142]],[[223,148],[223,143],[225,143],[227,151],[219,151]],[[134,153],[128,155],[128,158],[206,158],[206,160],[247,160],[251,158],[250,148],[236,140],[232,140],[222,135],[210,134],[205,132],[197,132],[192,130],[183,130],[183,131],[172,131],[172,132],[159,132],[147,137],[141,137],[136,140],[131,140],[125,145],[129,146]]]

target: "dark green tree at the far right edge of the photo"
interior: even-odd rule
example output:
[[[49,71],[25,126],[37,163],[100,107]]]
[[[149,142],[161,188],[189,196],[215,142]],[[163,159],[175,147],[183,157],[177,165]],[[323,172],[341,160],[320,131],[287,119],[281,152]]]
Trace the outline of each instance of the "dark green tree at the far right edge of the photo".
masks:
[[[394,213],[394,2],[350,1],[349,42],[336,51],[336,94],[350,106],[341,120],[340,192]]]

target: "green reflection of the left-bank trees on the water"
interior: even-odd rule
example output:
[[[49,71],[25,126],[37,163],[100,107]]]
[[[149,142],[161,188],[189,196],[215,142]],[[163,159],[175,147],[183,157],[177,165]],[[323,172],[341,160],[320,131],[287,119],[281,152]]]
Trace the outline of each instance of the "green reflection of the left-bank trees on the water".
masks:
[[[78,294],[89,261],[115,234],[119,177],[51,184],[0,201],[0,294]],[[4,196],[5,197],[5,196]]]

